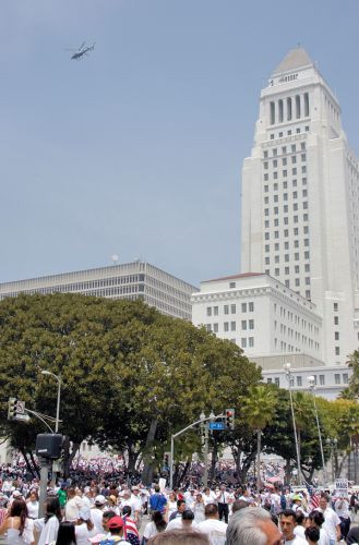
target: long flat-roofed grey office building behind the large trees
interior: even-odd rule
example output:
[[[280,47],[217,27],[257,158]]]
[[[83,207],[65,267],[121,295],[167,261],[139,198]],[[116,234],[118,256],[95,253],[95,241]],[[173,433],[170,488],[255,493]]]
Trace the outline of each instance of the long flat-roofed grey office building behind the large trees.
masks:
[[[176,318],[191,319],[198,288],[148,263],[136,261],[74,272],[0,283],[0,301],[20,293],[83,293],[109,299],[142,299]]]

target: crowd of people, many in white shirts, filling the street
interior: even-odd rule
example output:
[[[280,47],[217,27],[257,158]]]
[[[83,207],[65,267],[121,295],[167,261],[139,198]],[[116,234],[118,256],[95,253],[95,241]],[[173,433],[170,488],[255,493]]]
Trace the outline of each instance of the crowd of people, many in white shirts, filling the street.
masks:
[[[164,485],[164,483],[160,483]],[[0,494],[0,534],[13,545],[334,545],[359,542],[351,519],[358,496],[284,487],[256,493],[228,483],[172,491],[92,480],[48,487],[39,517],[39,483],[4,474]]]

